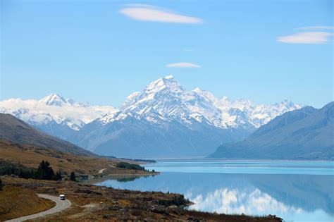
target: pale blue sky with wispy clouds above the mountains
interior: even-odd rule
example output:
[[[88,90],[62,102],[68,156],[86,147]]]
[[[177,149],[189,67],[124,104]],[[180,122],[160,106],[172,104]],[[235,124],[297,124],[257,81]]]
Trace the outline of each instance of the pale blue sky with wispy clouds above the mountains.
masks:
[[[120,106],[173,74],[186,90],[333,101],[333,1],[1,1],[0,100]]]

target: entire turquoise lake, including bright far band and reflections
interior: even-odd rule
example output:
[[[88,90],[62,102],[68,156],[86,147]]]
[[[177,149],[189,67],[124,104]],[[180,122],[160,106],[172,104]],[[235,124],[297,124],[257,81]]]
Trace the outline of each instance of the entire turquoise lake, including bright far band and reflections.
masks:
[[[326,161],[161,160],[161,172],[118,177],[97,185],[176,192],[190,209],[225,214],[275,214],[285,221],[334,221],[334,163]]]

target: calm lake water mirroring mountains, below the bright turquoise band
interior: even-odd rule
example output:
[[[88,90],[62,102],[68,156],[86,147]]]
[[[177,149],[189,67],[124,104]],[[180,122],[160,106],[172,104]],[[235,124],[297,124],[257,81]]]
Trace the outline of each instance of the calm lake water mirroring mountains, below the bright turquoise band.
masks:
[[[128,182],[99,181],[121,189],[177,192],[190,209],[225,214],[275,214],[285,221],[334,221],[333,175],[163,172]]]

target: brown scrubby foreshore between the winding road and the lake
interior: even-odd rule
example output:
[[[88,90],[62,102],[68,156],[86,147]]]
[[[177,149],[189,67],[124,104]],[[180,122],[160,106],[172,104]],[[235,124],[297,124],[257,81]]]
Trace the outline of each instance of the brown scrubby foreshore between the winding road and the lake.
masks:
[[[2,177],[8,187],[24,187],[38,193],[66,195],[73,207],[37,221],[62,218],[66,221],[282,221],[276,216],[214,214],[185,209],[191,202],[183,195],[163,192],[119,190],[111,187],[82,185],[72,181],[32,180]],[[1,195],[1,192],[0,192]],[[24,199],[23,199],[24,201]],[[1,216],[1,215],[0,215]],[[1,219],[7,219],[4,216]]]

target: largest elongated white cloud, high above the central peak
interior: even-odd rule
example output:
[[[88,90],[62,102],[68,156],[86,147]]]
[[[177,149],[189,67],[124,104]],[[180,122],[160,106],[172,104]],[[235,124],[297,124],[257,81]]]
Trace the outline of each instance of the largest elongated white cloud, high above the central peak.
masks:
[[[127,5],[120,9],[120,13],[135,20],[160,22],[160,23],[190,23],[201,24],[202,18],[183,16],[178,13],[167,11],[164,8],[142,4]]]

